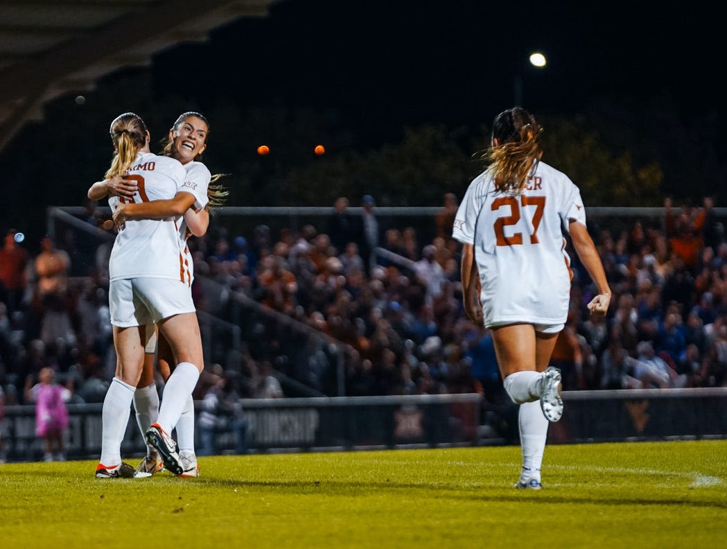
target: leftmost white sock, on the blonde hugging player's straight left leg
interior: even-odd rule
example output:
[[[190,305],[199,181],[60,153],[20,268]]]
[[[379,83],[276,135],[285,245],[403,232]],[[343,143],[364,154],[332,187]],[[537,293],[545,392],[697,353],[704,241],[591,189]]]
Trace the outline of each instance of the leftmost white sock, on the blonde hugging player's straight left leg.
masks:
[[[129,422],[135,388],[114,377],[103,399],[101,412],[101,463],[113,467],[121,463],[121,441]]]

